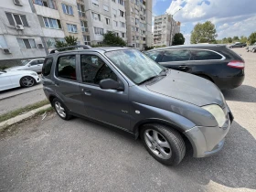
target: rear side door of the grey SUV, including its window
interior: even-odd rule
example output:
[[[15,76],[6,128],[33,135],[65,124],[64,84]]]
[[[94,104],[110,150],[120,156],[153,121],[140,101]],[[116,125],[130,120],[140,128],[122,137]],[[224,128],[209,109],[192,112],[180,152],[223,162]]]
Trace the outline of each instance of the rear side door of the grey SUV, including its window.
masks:
[[[55,93],[70,112],[84,111],[77,80],[78,63],[76,53],[63,53],[58,56],[54,73]]]

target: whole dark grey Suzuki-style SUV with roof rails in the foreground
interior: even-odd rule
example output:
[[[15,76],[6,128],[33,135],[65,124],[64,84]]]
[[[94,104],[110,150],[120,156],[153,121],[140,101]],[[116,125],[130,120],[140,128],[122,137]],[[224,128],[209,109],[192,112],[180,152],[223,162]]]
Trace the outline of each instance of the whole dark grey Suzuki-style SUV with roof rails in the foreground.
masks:
[[[43,65],[44,91],[63,120],[79,116],[140,137],[157,161],[177,165],[186,153],[214,155],[233,121],[219,88],[165,69],[133,48],[52,50]],[[70,127],[71,128],[71,127]]]

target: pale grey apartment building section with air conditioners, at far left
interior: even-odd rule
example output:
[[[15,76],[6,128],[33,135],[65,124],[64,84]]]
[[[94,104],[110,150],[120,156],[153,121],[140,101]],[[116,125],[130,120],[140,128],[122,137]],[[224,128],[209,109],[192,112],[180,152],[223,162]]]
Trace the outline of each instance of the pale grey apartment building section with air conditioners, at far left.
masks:
[[[12,66],[20,59],[46,56],[43,32],[27,0],[5,0],[0,5],[0,66]]]

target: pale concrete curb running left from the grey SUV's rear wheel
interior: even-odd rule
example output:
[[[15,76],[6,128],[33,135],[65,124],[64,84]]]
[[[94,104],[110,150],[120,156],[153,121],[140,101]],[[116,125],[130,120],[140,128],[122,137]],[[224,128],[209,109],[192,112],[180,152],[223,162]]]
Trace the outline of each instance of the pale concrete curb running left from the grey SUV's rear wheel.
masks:
[[[7,126],[13,125],[15,123],[19,123],[19,122],[21,122],[23,120],[26,120],[27,118],[32,117],[33,115],[35,115],[37,112],[40,112],[41,110],[46,110],[49,107],[51,107],[51,105],[47,104],[47,105],[39,107],[39,108],[37,108],[35,110],[32,110],[30,112],[26,112],[24,114],[17,115],[16,117],[8,119],[5,122],[1,122],[0,123],[0,131],[2,131],[2,129],[5,129],[5,127],[7,127]]]

